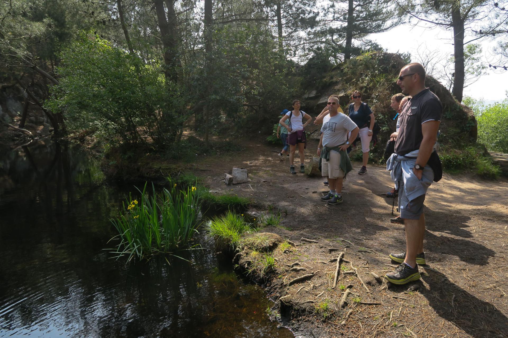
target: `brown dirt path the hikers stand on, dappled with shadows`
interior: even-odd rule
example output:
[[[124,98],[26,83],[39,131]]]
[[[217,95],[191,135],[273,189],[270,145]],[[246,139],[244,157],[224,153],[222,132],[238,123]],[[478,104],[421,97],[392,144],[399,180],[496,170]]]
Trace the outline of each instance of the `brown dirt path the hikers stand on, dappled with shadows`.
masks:
[[[355,259],[355,263],[363,261],[365,273],[382,276],[395,267],[387,256],[405,250],[404,230],[389,221],[392,199],[384,193],[392,182],[384,166],[369,165],[368,173],[360,176],[356,173],[359,163],[353,163],[356,170],[344,181],[343,204],[329,206],[319,199],[321,192],[327,191],[322,178],[291,175],[289,161],[278,161],[275,147],[262,143],[246,147],[238,154],[203,160],[196,174],[205,177],[218,193],[251,197],[258,204],[281,210],[281,225],[291,231],[274,232],[292,241],[298,241],[303,233],[320,242],[328,239],[325,247],[329,247],[333,243],[330,241],[340,237],[354,243],[353,248],[338,248],[349,250],[346,257]],[[307,154],[314,154],[315,148],[316,142],[310,142]],[[248,169],[250,185],[224,184],[223,173],[233,166]],[[295,317],[291,325],[297,332],[306,332],[303,335],[316,337],[508,336],[506,201],[506,179],[486,181],[470,175],[443,175],[430,187],[425,201],[428,266],[421,268],[425,274],[419,292],[410,291],[407,285],[388,289],[379,285],[373,293],[383,305],[353,306],[345,325],[339,325],[343,319],[340,316],[316,322],[308,311]],[[324,249],[320,253],[323,243],[315,248],[305,246],[313,256],[309,259],[328,261],[337,256],[328,255]],[[303,246],[298,248],[304,250]],[[368,252],[355,250],[358,248],[368,248]]]

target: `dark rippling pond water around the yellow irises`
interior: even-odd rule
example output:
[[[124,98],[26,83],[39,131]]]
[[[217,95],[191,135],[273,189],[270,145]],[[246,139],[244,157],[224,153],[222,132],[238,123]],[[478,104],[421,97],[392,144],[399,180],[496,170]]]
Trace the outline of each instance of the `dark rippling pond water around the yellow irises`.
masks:
[[[0,336],[294,336],[270,321],[263,290],[212,250],[186,253],[195,264],[111,259],[109,219],[130,191],[71,146],[0,153]]]

